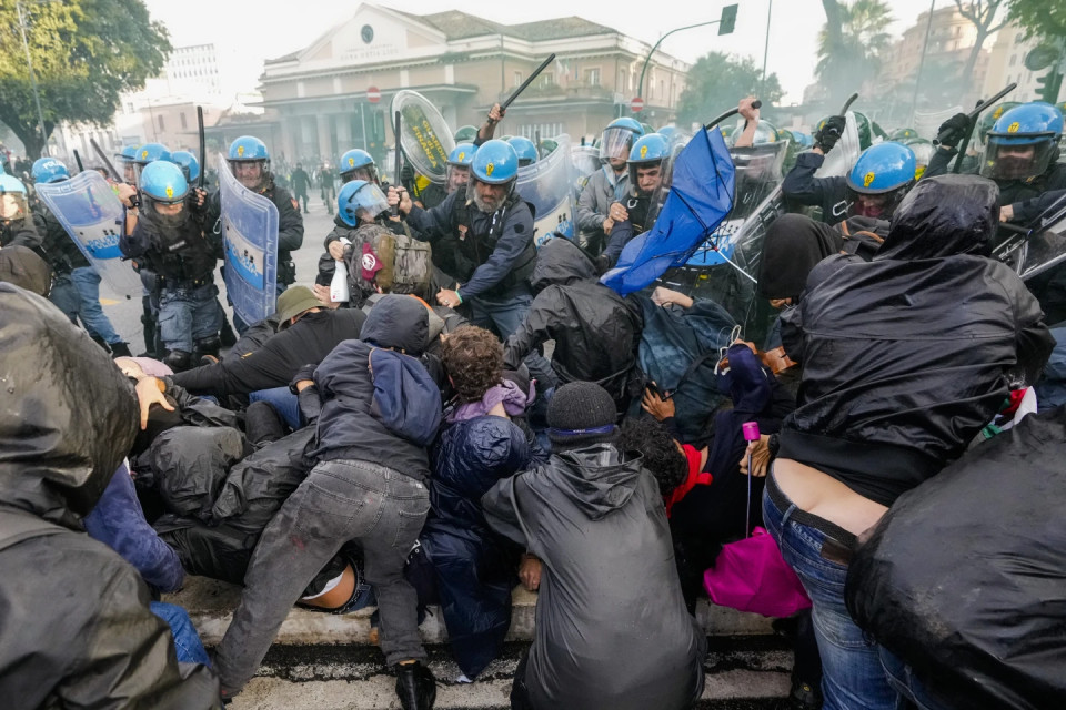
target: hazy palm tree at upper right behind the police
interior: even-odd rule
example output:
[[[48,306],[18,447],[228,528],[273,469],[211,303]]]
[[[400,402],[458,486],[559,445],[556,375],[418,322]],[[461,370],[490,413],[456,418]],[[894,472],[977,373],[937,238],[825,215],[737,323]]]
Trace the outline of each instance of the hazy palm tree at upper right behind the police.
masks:
[[[881,57],[892,38],[888,4],[882,0],[855,0],[851,4],[823,0],[829,20],[818,33],[818,80],[829,90],[831,106],[867,79],[876,77]]]

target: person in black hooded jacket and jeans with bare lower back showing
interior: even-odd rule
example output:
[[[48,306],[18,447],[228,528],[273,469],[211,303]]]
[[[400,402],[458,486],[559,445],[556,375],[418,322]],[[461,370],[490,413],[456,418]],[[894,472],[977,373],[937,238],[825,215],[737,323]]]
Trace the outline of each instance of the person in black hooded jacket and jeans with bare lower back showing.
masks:
[[[844,606],[857,536],[957,458],[1052,348],[1036,300],[987,258],[997,200],[982,178],[923,179],[872,262],[821,262],[783,316],[803,398],[782,428],[763,519],[823,619],[831,707],[896,707],[876,646]]]

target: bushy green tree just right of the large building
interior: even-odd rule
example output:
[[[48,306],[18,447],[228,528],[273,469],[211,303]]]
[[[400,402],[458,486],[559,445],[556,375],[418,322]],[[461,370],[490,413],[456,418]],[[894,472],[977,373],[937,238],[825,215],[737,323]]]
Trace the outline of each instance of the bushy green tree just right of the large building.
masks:
[[[777,74],[768,74],[766,81],[762,81],[762,69],[752,58],[735,59],[711,52],[688,70],[685,90],[677,101],[677,122],[680,125],[705,123],[752,94],[770,108],[784,93]]]

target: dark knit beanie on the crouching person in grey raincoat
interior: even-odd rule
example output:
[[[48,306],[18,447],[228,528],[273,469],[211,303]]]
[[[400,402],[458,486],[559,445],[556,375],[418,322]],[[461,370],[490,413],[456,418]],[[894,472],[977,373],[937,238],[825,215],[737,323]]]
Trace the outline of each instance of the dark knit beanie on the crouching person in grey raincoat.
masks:
[[[617,438],[617,413],[607,390],[591,382],[572,382],[547,404],[547,437],[553,448],[575,448]]]

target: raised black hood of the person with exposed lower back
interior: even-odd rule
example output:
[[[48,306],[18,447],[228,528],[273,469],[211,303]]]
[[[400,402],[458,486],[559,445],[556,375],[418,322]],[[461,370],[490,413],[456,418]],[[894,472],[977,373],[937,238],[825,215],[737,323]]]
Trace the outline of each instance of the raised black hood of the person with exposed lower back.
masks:
[[[915,261],[956,254],[992,254],[999,224],[999,187],[977,175],[919,180],[892,215],[874,261]]]

